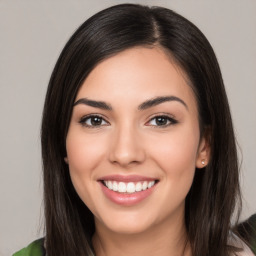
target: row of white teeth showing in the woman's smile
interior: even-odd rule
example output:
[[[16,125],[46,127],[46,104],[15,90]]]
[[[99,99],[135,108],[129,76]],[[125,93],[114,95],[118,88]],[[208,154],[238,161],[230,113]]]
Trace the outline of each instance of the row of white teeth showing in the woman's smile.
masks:
[[[118,181],[104,181],[104,184],[110,190],[119,192],[119,193],[135,193],[142,190],[146,190],[155,185],[155,181],[141,181],[141,182],[118,182]]]

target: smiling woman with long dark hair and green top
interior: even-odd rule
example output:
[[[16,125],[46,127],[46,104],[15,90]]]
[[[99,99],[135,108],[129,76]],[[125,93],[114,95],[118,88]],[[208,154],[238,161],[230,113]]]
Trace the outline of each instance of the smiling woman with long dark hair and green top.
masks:
[[[252,255],[231,232],[238,163],[216,57],[168,9],[117,5],[80,26],[50,79],[42,155],[46,236],[25,255]]]

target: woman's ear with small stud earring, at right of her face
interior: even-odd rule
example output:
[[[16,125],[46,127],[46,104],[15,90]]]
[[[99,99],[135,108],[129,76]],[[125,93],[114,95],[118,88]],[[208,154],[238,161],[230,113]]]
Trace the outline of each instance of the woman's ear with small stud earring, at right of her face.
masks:
[[[197,159],[196,159],[196,167],[199,169],[206,167],[210,161],[210,154],[211,154],[210,138],[208,136],[208,133],[205,133],[199,143]]]

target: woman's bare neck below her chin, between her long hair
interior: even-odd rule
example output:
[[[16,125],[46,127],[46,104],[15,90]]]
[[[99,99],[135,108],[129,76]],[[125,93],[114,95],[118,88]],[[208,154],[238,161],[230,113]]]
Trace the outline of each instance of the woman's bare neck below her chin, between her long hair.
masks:
[[[191,256],[184,218],[171,226],[163,222],[136,234],[115,233],[98,225],[97,221],[95,224],[93,245],[96,256]]]

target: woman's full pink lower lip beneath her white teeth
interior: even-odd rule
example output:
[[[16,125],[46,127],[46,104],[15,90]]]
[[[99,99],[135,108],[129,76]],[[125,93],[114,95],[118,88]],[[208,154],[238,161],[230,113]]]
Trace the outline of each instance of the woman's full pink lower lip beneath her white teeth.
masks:
[[[112,202],[119,204],[119,205],[124,205],[124,206],[132,206],[135,204],[140,203],[147,197],[151,195],[153,190],[155,189],[156,184],[148,188],[146,190],[142,190],[140,192],[135,192],[135,193],[118,193],[113,190],[108,189],[106,186],[104,186],[101,182],[99,182],[102,188],[103,193],[105,196],[110,199]]]

